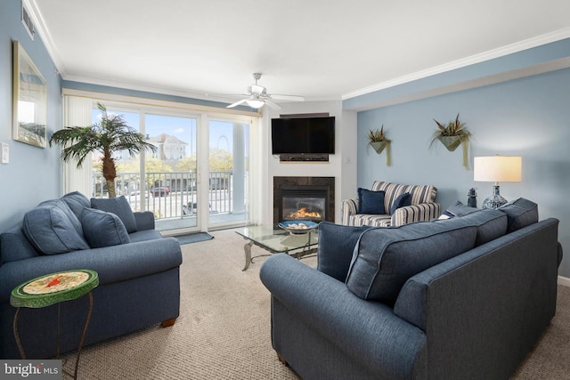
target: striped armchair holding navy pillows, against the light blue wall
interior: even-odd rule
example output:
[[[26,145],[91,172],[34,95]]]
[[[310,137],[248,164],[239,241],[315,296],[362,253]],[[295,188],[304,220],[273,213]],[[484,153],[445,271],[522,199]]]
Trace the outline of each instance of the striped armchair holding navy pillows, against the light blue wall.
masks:
[[[436,219],[441,214],[441,206],[436,203],[437,189],[432,185],[402,185],[392,182],[375,181],[373,191],[383,190],[384,208],[390,206],[399,195],[409,192],[411,206],[397,208],[394,214],[358,214],[358,198],[342,201],[342,224],[348,226],[397,227],[403,224]]]

